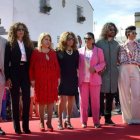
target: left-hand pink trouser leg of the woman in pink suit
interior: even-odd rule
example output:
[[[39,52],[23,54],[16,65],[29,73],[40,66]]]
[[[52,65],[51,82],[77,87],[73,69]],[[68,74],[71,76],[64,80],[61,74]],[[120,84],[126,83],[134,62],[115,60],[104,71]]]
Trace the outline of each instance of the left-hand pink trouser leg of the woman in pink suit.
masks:
[[[89,100],[89,84],[82,83],[80,85],[80,113],[82,124],[87,124],[88,119],[88,100]]]

